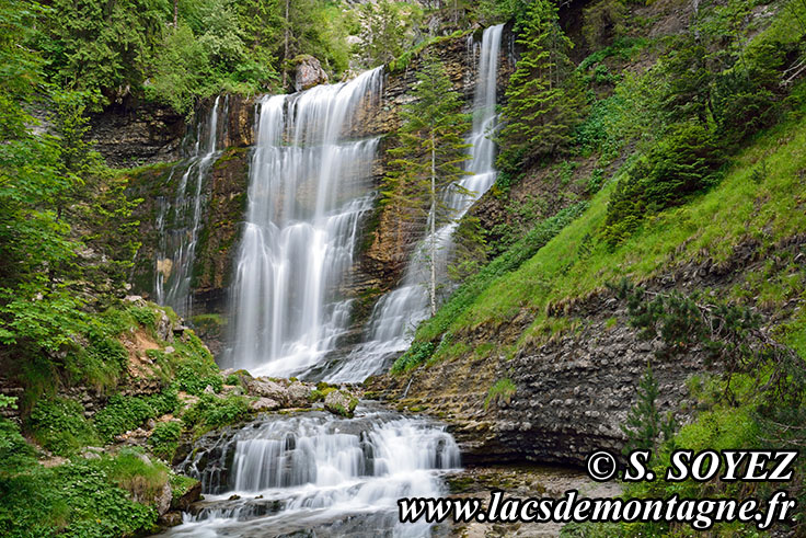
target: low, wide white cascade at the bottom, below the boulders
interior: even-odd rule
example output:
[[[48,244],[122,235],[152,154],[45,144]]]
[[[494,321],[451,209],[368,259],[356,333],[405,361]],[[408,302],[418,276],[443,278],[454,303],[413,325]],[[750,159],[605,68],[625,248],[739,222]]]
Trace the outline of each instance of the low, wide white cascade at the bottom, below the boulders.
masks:
[[[403,496],[446,492],[453,437],[425,419],[359,405],[355,419],[313,412],[267,416],[224,437],[202,437],[180,465],[205,501],[166,536],[412,536],[398,523]]]

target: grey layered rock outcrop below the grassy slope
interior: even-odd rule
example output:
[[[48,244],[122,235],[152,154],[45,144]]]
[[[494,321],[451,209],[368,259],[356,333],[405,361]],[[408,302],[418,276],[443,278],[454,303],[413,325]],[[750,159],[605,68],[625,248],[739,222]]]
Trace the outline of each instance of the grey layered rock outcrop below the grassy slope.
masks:
[[[806,237],[796,236],[775,252],[794,256],[804,244]],[[726,262],[690,263],[643,286],[686,295],[707,288],[718,296],[759,271],[763,256],[758,249],[748,242]],[[661,344],[638,339],[624,305],[606,290],[554,305],[546,313],[565,329],[523,343],[513,357],[500,350],[521,337],[537,312],[521,310],[509,322],[456,334],[471,344],[467,353],[407,376],[371,379],[367,389],[401,410],[449,422],[468,463],[526,459],[579,465],[596,448],[620,450],[620,424],[635,403],[635,388],[648,362],[661,413],[672,411],[679,423],[687,422],[694,405],[687,400],[687,379],[707,371],[702,350],[671,358],[656,355]],[[781,314],[762,313],[768,319]],[[491,388],[500,380],[510,381],[511,390],[494,394]]]

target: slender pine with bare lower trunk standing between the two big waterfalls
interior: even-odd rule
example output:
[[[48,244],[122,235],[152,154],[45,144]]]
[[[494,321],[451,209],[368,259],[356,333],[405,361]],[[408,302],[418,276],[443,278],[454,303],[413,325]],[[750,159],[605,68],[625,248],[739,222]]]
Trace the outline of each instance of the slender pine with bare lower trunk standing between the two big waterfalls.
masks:
[[[431,314],[437,311],[437,226],[450,221],[451,208],[445,195],[461,191],[459,181],[467,172],[464,134],[470,129],[461,112],[459,93],[453,90],[445,67],[426,55],[417,72],[414,101],[403,106],[398,129],[400,146],[390,150],[391,171],[384,179],[383,203],[392,204],[399,218],[428,222],[426,241],[429,265],[428,295]],[[405,216],[403,215],[405,213]]]

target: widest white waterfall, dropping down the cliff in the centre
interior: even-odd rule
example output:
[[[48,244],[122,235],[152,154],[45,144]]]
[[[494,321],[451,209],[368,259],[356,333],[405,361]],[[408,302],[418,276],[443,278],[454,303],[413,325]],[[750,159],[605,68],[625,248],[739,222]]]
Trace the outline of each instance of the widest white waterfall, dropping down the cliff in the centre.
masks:
[[[371,209],[377,138],[349,139],[382,70],[261,100],[249,210],[234,281],[230,363],[291,376],[332,351],[349,322],[338,290]]]

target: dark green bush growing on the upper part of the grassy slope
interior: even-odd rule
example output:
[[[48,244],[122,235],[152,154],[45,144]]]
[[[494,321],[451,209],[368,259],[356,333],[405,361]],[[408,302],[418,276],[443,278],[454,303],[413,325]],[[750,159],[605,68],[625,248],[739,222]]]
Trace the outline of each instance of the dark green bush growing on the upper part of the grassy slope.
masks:
[[[608,204],[604,239],[615,244],[635,231],[644,216],[683,204],[712,186],[722,162],[707,129],[698,123],[677,126],[617,184]]]

